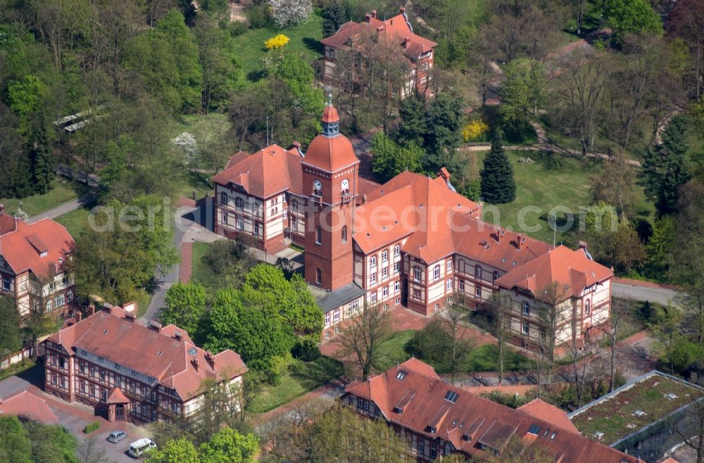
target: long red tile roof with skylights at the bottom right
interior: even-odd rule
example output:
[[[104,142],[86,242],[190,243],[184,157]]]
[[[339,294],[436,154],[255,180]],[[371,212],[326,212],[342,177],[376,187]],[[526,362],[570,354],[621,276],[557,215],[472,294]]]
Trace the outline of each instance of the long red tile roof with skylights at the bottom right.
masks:
[[[417,362],[404,362],[367,381],[354,381],[345,391],[372,400],[390,424],[441,443],[450,442],[468,455],[484,455],[479,442],[501,446],[513,434],[524,443],[547,450],[561,463],[640,461],[550,421],[444,383],[436,375],[422,374]]]

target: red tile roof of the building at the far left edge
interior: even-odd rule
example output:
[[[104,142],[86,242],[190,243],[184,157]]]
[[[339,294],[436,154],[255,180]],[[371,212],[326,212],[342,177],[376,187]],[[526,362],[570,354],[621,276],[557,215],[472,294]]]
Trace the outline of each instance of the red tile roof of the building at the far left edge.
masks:
[[[0,255],[15,274],[29,270],[37,279],[46,280],[63,272],[63,261],[74,245],[68,230],[54,220],[32,224],[18,220],[14,231],[0,236]]]

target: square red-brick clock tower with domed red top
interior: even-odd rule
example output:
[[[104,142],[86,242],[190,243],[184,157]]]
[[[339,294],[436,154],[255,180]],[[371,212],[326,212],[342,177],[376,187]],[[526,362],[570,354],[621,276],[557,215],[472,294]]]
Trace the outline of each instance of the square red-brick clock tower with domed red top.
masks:
[[[340,134],[337,110],[328,103],[322,134],[308,146],[303,169],[306,211],[306,281],[334,291],[352,283],[352,233],[359,159]]]

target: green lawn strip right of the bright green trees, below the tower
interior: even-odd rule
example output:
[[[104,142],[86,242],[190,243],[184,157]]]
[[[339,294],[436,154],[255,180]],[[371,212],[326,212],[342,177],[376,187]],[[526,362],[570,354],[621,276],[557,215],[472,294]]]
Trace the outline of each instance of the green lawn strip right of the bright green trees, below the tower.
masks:
[[[249,402],[247,409],[253,413],[268,412],[313,391],[341,374],[342,365],[328,357],[320,357],[313,362],[294,360],[281,383],[278,386],[265,386]]]

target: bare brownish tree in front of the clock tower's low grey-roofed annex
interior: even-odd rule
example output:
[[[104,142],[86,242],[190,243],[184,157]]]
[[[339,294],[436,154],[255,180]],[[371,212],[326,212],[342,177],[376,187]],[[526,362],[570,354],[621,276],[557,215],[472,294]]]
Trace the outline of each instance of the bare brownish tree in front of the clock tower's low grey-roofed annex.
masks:
[[[365,304],[360,315],[346,322],[348,326],[337,340],[344,355],[353,355],[363,378],[366,378],[382,355],[379,344],[391,336],[391,312],[378,304]]]

